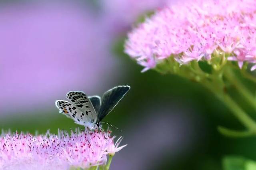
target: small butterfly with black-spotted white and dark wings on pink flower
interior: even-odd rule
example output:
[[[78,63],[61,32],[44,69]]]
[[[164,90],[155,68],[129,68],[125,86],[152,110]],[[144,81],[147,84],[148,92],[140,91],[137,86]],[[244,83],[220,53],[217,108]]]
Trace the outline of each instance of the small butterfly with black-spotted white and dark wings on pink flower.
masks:
[[[83,91],[70,91],[66,94],[69,101],[56,100],[59,112],[74,120],[78,125],[90,129],[101,127],[101,121],[128,92],[130,86],[116,86],[100,96],[87,95]]]

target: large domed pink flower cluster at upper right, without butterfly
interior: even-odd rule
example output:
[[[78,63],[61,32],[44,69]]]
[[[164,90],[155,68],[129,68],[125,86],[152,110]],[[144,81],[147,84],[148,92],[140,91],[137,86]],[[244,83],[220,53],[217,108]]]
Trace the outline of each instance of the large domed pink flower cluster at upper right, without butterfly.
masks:
[[[167,6],[128,34],[125,52],[146,71],[173,55],[180,64],[210,60],[256,63],[255,0],[190,0]],[[251,70],[256,69],[254,65]]]

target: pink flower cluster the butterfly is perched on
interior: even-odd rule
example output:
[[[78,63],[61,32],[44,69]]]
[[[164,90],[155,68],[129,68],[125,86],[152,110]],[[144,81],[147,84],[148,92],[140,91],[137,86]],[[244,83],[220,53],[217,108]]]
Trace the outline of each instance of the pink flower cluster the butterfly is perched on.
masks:
[[[104,165],[108,154],[113,155],[121,138],[114,144],[110,132],[59,131],[58,135],[2,134],[0,136],[1,170],[69,170],[71,167],[90,168]]]

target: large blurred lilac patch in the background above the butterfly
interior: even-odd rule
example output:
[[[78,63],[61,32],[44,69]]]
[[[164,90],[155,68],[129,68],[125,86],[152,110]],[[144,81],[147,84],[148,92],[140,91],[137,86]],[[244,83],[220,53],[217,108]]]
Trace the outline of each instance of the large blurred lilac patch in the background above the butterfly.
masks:
[[[120,76],[99,20],[74,2],[3,4],[0,113],[44,109],[67,91],[96,92]]]

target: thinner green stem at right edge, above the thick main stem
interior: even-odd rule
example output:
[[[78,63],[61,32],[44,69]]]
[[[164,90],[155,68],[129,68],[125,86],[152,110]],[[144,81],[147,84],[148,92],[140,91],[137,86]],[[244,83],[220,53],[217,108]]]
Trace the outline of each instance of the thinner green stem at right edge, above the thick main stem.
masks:
[[[226,78],[232,82],[237,88],[238,92],[252,105],[256,110],[256,99],[253,97],[252,93],[236,78],[231,70],[226,71]]]

